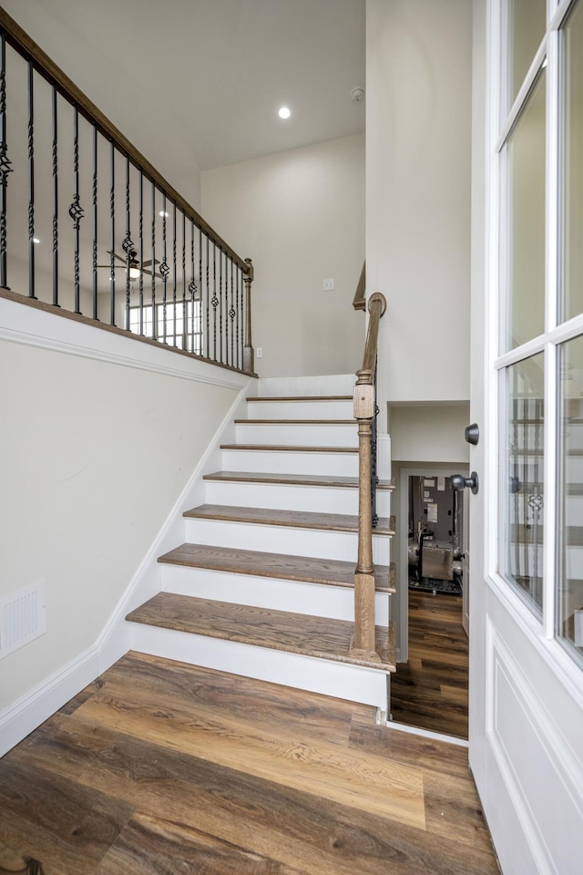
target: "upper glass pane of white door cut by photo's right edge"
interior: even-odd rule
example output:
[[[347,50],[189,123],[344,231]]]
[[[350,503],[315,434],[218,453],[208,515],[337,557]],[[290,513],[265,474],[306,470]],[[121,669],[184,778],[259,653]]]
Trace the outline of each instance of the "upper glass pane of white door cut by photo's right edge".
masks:
[[[583,312],[583,4],[569,15],[564,47],[564,306],[563,319]]]

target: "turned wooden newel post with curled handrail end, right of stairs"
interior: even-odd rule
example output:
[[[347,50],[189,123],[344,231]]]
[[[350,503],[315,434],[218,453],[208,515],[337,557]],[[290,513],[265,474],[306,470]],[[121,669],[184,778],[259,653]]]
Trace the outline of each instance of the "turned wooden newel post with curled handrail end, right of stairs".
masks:
[[[383,293],[375,292],[368,302],[369,323],[363,366],[356,372],[353,413],[358,422],[358,560],[354,572],[354,636],[351,653],[380,660],[374,640],[373,564],[373,421],[376,417],[374,379],[379,324],[386,310]]]

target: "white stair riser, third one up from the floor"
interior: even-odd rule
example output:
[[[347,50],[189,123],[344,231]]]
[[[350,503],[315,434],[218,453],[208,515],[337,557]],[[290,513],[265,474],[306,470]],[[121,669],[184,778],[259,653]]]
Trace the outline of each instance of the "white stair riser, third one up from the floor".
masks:
[[[291,526],[255,525],[225,520],[185,519],[186,540],[211,547],[290,553],[292,556],[315,556],[322,559],[356,561],[356,532],[318,529],[294,529]],[[389,538],[373,535],[373,561],[389,562]]]

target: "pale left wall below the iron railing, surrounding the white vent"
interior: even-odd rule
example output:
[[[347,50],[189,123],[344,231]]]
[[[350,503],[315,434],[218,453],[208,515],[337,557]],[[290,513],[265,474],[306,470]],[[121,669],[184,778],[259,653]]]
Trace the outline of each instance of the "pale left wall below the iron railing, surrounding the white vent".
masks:
[[[248,378],[6,300],[0,371],[0,598],[47,600],[1,713],[96,642]]]

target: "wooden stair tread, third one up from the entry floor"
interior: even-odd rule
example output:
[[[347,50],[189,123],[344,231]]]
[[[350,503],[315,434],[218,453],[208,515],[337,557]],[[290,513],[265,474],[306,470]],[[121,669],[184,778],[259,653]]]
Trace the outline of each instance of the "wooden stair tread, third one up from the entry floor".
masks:
[[[248,522],[265,526],[287,526],[294,529],[329,531],[358,531],[358,516],[348,513],[321,513],[310,510],[271,510],[269,508],[241,508],[224,504],[201,504],[182,514],[189,520],[225,520]],[[373,529],[375,535],[394,535],[394,517],[379,518]]]

